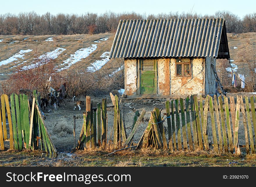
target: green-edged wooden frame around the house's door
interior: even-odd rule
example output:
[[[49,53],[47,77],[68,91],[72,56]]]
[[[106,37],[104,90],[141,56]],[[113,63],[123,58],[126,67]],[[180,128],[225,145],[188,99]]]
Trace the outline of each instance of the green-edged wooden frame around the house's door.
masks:
[[[144,58],[145,59],[145,58]],[[145,95],[158,95],[158,84],[157,84],[157,82],[158,82],[158,74],[157,74],[157,72],[158,72],[158,69],[157,69],[157,59],[155,59],[155,58],[147,58],[148,60],[154,60],[154,65],[155,65],[155,85],[156,85],[156,93],[155,94],[141,94],[141,65],[142,65],[142,60],[143,60],[143,58],[138,58],[137,59],[137,67],[136,67],[136,69],[137,69],[137,77],[138,77],[138,81],[137,81],[137,95],[138,96],[145,96]]]

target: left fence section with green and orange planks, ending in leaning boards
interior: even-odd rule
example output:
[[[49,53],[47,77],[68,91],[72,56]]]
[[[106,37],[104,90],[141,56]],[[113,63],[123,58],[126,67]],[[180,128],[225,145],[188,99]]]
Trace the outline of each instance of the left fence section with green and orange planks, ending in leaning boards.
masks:
[[[4,142],[9,141],[10,149],[36,150],[40,147],[49,154],[57,154],[45,126],[45,117],[39,101],[36,90],[33,92],[32,108],[26,94],[11,94],[10,104],[6,94],[1,96],[0,150],[4,150]],[[6,121],[6,114],[8,121]]]

